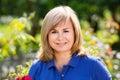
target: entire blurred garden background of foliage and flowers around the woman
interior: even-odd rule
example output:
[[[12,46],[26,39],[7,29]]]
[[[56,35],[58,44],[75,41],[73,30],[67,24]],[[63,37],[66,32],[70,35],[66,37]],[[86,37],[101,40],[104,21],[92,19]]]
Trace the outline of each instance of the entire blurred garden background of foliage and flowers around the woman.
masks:
[[[0,0],[0,80],[27,74],[40,47],[43,18],[59,5],[76,11],[84,48],[120,80],[120,0]]]

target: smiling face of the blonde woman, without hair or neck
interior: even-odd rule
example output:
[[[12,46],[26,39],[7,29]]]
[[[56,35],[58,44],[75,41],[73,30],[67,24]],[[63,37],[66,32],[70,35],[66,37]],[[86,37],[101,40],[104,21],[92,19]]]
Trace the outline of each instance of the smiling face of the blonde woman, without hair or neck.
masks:
[[[48,41],[55,53],[71,52],[74,29],[70,19],[60,22],[48,34]]]

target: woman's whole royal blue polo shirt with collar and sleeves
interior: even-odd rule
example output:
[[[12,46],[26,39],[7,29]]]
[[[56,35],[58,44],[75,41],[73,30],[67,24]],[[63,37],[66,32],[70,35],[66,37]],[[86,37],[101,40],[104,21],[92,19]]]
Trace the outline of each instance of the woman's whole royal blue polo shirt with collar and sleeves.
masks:
[[[54,59],[49,62],[35,61],[29,76],[32,80],[112,80],[107,67],[100,58],[74,54],[69,64],[58,72]]]

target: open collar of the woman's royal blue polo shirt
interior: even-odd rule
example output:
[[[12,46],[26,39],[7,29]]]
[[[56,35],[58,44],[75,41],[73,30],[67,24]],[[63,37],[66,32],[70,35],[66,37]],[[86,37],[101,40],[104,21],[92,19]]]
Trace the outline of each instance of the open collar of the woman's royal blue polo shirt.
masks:
[[[78,57],[79,56],[77,55],[77,53],[74,53],[73,56],[72,56],[72,59],[68,63],[68,66],[76,67],[78,62],[79,62]],[[52,67],[55,67],[54,59],[52,59],[50,62],[48,62],[48,68],[52,68]]]

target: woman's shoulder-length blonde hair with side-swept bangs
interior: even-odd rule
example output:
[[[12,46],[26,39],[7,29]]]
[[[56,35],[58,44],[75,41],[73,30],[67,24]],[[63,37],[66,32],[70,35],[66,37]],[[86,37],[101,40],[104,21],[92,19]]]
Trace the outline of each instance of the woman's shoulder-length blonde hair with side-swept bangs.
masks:
[[[75,32],[75,41],[71,48],[71,54],[78,52],[78,55],[85,55],[82,49],[82,33],[79,20],[75,12],[68,6],[58,6],[50,10],[44,20],[41,28],[41,49],[38,58],[42,61],[50,61],[54,57],[53,49],[48,42],[48,33],[58,23],[70,18]]]

